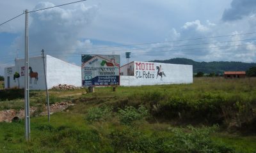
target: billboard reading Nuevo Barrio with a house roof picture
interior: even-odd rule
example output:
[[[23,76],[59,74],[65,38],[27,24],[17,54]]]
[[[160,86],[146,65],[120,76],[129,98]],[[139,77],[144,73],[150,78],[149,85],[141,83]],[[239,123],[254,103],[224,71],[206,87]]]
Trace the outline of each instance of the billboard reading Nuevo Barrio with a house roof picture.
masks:
[[[120,55],[82,55],[84,87],[120,85]]]

